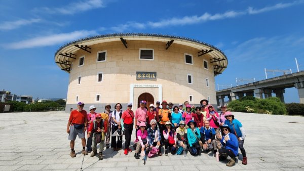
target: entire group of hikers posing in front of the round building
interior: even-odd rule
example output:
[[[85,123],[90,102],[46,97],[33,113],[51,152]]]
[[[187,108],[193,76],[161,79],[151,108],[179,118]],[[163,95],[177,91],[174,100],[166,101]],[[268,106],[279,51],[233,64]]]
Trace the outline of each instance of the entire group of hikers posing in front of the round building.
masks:
[[[226,106],[221,106],[221,112],[215,111],[208,100],[200,101],[200,107],[189,105],[188,101],[179,106],[166,100],[150,104],[146,101],[139,102],[140,107],[133,112],[132,103],[127,104],[127,109],[122,110],[120,103],[111,111],[109,104],[105,111],[96,113],[96,107],[90,106],[87,113],[83,102],[78,102],[77,109],[70,113],[67,123],[68,140],[70,140],[70,156],[75,157],[74,141],[77,137],[82,140],[82,154],[91,157],[98,154],[99,160],[103,159],[102,151],[113,148],[113,151],[122,149],[123,135],[125,135],[124,154],[132,152],[130,149],[133,127],[135,128],[135,141],[133,143],[134,157],[161,156],[162,147],[168,155],[178,154],[186,156],[187,151],[193,156],[200,156],[201,151],[211,151],[218,160],[228,159],[227,166],[233,166],[240,148],[243,161],[247,164],[246,152],[243,147],[245,129],[235,116],[227,111]],[[87,132],[87,141],[85,132]],[[111,143],[110,143],[111,138]],[[97,153],[99,144],[99,153]],[[86,150],[87,146],[87,150]],[[212,154],[211,153],[211,154]],[[229,156],[229,157],[228,157]]]

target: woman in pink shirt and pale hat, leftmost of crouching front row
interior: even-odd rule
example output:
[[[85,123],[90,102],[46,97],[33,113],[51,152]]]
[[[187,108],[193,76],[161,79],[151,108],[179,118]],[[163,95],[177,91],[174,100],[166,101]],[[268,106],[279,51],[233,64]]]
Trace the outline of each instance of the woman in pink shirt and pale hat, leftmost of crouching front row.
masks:
[[[136,149],[134,157],[139,159],[140,152],[144,150],[144,148],[148,147],[148,132],[145,130],[146,124],[145,122],[140,122],[139,129],[136,132]]]

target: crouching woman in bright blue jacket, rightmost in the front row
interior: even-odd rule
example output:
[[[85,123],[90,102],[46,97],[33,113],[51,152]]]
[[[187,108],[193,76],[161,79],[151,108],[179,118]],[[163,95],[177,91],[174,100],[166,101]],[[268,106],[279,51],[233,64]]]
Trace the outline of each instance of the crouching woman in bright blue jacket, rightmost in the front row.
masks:
[[[226,166],[233,166],[236,163],[236,156],[239,154],[238,139],[235,134],[230,132],[230,127],[226,124],[220,126],[222,136],[216,134],[218,139],[221,139],[220,143],[223,146],[218,150],[220,154],[220,160],[224,160],[227,156],[231,159],[228,161]]]

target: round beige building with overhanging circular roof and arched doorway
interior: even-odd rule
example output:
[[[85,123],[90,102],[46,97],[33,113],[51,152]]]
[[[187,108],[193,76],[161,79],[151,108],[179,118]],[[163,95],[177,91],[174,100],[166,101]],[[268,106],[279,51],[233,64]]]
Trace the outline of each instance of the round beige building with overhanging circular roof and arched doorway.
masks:
[[[70,42],[59,48],[55,62],[70,74],[66,112],[83,101],[97,112],[105,104],[128,102],[133,109],[167,100],[198,106],[216,104],[214,77],[224,71],[227,58],[212,45],[174,36],[111,34]],[[87,109],[88,110],[88,109]]]

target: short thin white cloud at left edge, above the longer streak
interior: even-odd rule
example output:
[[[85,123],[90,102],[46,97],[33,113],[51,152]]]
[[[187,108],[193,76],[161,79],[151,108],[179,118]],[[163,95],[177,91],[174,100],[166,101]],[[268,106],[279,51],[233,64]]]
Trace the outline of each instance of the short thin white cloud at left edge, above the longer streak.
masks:
[[[32,23],[40,22],[40,21],[41,21],[41,19],[38,19],[38,18],[32,18],[29,20],[21,19],[21,20],[17,20],[17,21],[6,21],[6,22],[0,24],[0,30],[12,30],[12,29],[19,28],[23,25],[29,25]]]

